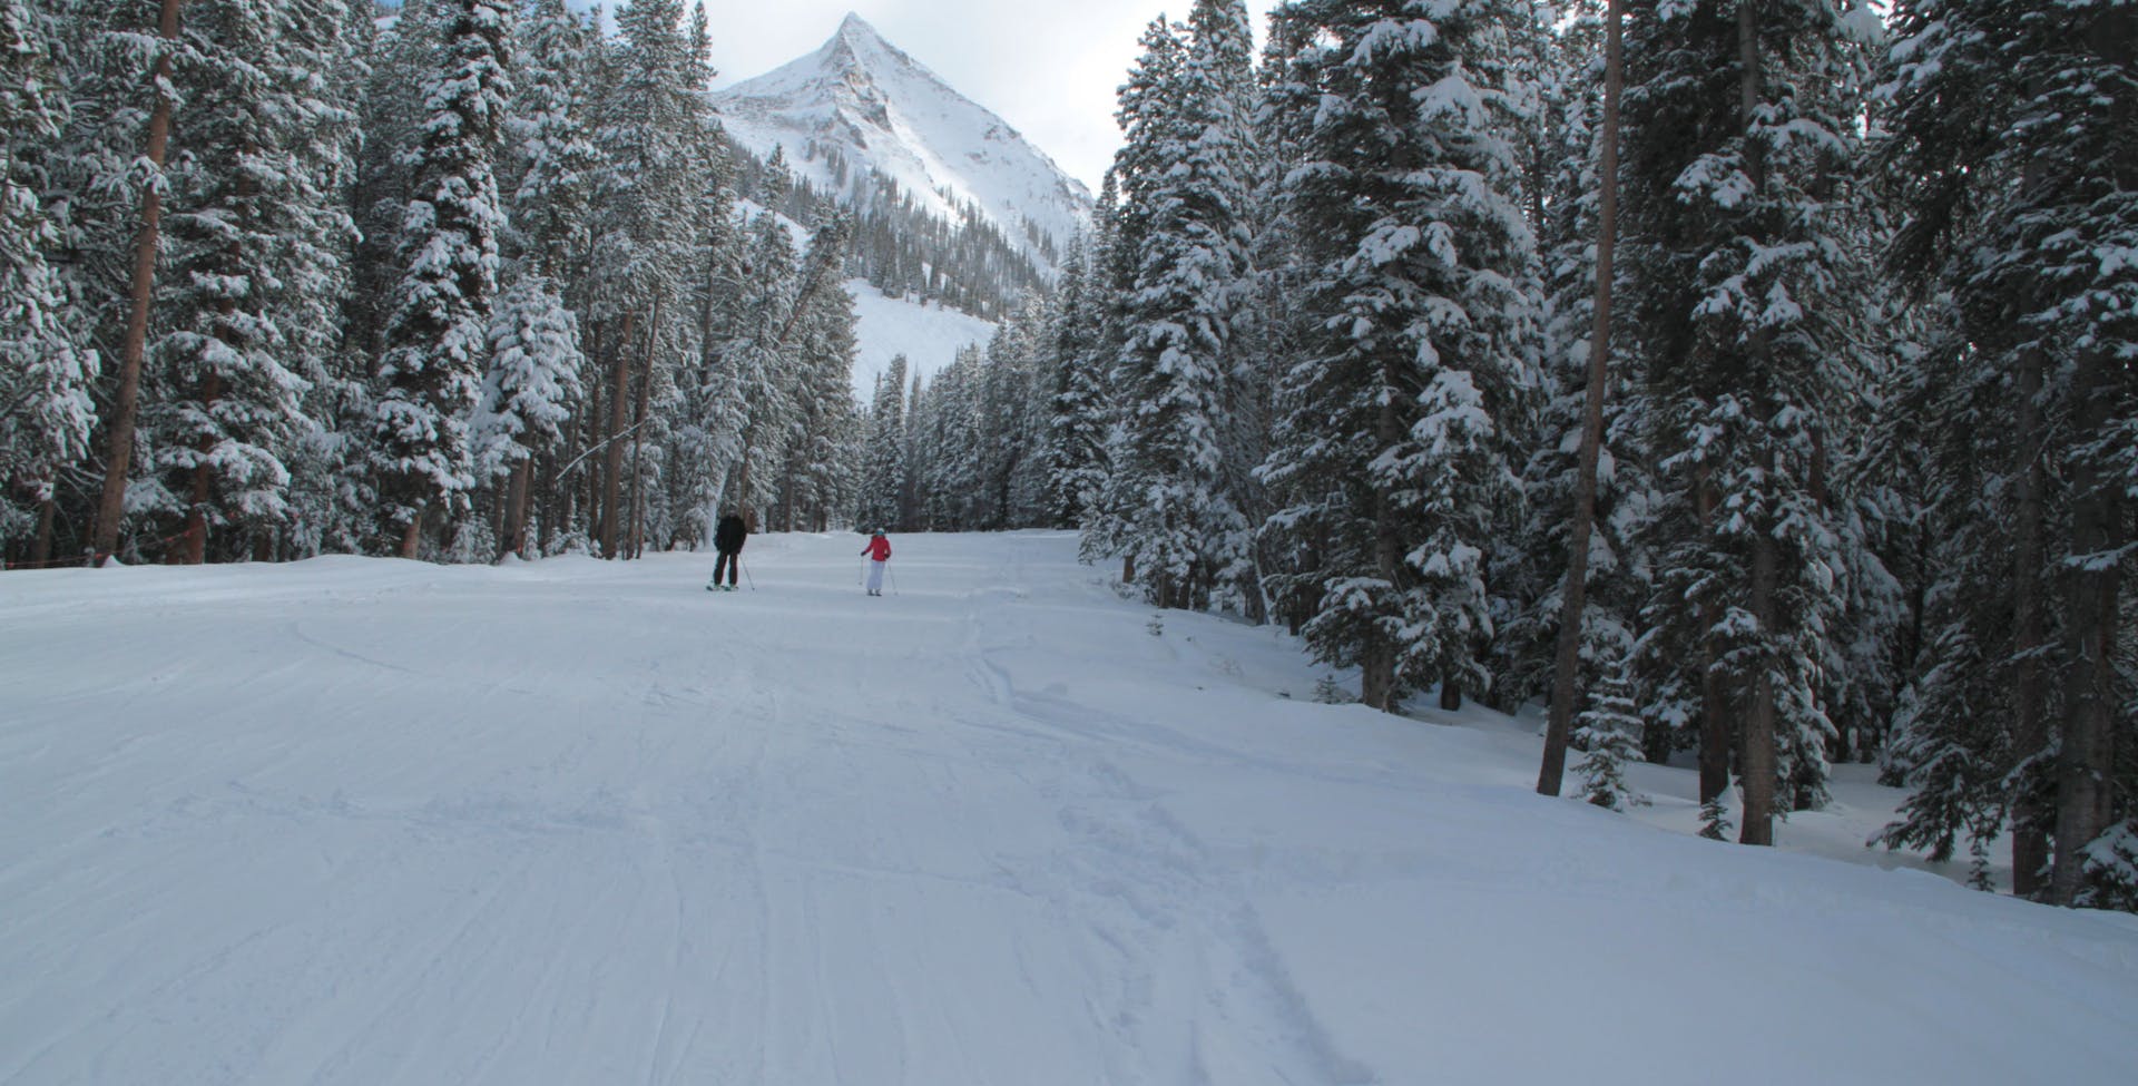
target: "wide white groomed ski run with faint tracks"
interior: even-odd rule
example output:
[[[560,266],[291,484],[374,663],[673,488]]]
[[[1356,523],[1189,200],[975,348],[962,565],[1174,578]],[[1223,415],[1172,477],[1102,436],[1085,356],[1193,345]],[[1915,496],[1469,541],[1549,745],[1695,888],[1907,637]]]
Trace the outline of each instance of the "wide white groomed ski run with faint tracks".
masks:
[[[1698,840],[1067,534],[859,545],[0,575],[0,1082],[2132,1082],[2134,917],[1860,776]]]

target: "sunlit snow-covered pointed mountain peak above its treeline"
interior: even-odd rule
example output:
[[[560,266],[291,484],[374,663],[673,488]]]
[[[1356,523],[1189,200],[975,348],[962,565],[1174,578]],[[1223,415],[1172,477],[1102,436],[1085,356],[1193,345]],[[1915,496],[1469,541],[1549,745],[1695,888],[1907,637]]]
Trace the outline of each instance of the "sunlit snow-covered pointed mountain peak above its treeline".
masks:
[[[1026,222],[1058,248],[1090,218],[1082,182],[857,15],[815,53],[714,92],[714,105],[735,143],[759,156],[785,148],[819,190],[847,188],[836,154],[847,177],[874,169],[945,220],[977,207],[1043,269],[1052,261],[1028,244]]]

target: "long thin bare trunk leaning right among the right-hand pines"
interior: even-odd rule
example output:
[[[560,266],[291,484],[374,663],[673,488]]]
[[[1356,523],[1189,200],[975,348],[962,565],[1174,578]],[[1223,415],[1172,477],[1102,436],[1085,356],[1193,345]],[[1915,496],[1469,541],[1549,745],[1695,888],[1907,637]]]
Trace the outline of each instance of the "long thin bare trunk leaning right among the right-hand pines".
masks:
[[[1574,524],[1567,528],[1567,586],[1559,603],[1559,652],[1552,663],[1552,710],[1544,727],[1537,793],[1559,795],[1574,735],[1574,691],[1580,671],[1582,616],[1589,609],[1589,537],[1597,519],[1597,462],[1604,449],[1604,393],[1610,368],[1612,257],[1618,248],[1618,94],[1623,88],[1621,0],[1610,0],[1604,34],[1604,145],[1597,184],[1595,325],[1589,329],[1589,398],[1582,406],[1582,451],[1574,481]]]

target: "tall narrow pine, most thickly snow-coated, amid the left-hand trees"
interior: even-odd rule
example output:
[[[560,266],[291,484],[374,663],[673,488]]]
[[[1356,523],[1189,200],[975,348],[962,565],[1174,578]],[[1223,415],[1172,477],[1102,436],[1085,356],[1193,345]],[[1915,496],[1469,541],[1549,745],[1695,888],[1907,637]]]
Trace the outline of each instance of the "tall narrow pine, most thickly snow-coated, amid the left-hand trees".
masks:
[[[387,547],[417,558],[425,517],[458,517],[475,485],[468,417],[487,359],[498,278],[496,158],[511,96],[502,0],[445,0],[425,77],[428,120],[406,150],[402,278],[387,316],[372,470]]]

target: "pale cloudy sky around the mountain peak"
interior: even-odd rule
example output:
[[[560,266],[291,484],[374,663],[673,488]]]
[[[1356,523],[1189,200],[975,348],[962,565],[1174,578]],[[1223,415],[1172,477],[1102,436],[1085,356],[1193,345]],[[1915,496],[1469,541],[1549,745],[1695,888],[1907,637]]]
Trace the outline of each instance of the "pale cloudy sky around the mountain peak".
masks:
[[[1259,11],[1261,0],[1251,0]],[[714,81],[763,75],[823,45],[853,11],[892,45],[992,109],[1099,195],[1114,160],[1114,88],[1135,38],[1187,0],[708,0]]]

